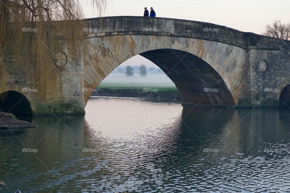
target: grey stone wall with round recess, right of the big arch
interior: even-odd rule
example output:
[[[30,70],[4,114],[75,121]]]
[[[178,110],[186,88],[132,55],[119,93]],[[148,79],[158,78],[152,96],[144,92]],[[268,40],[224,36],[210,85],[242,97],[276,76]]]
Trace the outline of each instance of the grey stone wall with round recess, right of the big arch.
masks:
[[[282,89],[290,84],[288,50],[252,50],[251,98],[254,106],[279,106]]]

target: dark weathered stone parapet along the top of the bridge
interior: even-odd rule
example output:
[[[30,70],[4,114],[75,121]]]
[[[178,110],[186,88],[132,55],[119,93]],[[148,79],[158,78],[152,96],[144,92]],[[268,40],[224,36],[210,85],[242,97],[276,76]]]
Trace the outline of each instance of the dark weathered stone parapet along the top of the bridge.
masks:
[[[161,35],[211,40],[244,49],[288,49],[290,41],[242,32],[217,24],[164,17],[117,16],[87,19],[88,38],[114,35]],[[254,46],[254,47],[253,47]]]

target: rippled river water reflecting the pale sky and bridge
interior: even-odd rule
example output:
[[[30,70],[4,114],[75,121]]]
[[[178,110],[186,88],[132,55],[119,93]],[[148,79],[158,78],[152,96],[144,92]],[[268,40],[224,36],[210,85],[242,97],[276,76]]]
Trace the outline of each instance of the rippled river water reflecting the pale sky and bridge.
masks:
[[[290,110],[113,97],[85,110],[0,130],[0,192],[290,192]]]

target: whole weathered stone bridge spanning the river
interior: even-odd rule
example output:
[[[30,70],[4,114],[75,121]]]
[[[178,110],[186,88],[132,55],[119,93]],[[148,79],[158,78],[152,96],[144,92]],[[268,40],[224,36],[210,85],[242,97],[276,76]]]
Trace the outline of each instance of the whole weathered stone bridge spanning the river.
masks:
[[[10,109],[24,95],[23,103],[14,109],[24,111],[31,106],[34,114],[83,114],[93,89],[138,54],[168,75],[184,105],[278,107],[290,93],[287,40],[158,17],[92,18],[87,19],[84,31],[87,44],[78,57],[65,49],[60,52],[66,58],[66,71],[60,78],[62,97],[55,100],[41,101],[34,92],[27,92],[32,86],[25,74],[13,59],[6,58],[10,100],[2,102],[2,108]]]

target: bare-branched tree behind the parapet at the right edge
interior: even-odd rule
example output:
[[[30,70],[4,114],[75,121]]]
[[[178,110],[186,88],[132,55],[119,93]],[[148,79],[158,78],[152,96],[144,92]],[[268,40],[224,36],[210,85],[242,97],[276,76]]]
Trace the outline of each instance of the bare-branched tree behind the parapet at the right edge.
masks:
[[[265,26],[265,31],[262,34],[269,37],[290,40],[290,22],[283,23],[281,20],[275,19]]]

